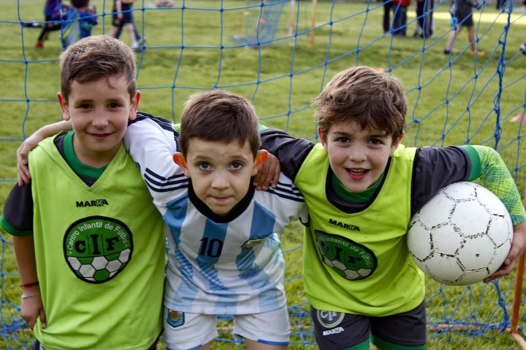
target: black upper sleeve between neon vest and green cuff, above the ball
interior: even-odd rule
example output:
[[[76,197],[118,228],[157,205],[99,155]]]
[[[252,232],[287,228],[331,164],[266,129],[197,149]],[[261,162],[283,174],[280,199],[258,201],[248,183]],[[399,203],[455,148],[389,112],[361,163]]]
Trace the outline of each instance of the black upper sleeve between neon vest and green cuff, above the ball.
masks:
[[[417,150],[411,182],[411,216],[442,187],[468,181],[471,161],[461,147],[422,147]]]

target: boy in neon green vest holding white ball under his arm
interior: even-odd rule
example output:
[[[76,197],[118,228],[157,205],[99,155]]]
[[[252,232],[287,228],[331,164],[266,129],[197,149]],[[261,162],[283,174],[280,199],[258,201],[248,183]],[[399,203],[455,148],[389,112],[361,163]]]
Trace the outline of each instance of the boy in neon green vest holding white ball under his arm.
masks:
[[[411,216],[440,188],[479,178],[514,225],[511,250],[491,280],[511,272],[526,243],[517,187],[489,147],[404,147],[405,94],[397,79],[375,69],[338,73],[313,105],[321,143],[275,129],[261,137],[309,209],[303,277],[316,342],[320,349],[368,350],[371,335],[382,350],[422,349],[424,275],[406,245]]]

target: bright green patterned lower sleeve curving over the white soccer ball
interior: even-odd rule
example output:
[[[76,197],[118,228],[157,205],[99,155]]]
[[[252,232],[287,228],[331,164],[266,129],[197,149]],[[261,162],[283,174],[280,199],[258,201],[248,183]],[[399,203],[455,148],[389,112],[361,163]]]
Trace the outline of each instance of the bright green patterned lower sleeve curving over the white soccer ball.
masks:
[[[487,146],[464,145],[471,160],[469,181],[479,178],[480,184],[500,198],[508,209],[513,226],[526,220],[517,184],[499,153]]]

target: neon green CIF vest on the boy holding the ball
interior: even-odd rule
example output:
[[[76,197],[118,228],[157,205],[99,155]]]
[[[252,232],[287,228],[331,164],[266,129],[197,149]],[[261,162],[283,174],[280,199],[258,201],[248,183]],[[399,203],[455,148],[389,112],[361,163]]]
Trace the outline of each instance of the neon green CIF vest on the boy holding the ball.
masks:
[[[305,159],[294,182],[309,208],[304,285],[316,309],[386,316],[422,302],[424,275],[408,252],[405,236],[415,152],[398,147],[380,193],[355,214],[344,213],[327,199],[329,157],[322,145]]]

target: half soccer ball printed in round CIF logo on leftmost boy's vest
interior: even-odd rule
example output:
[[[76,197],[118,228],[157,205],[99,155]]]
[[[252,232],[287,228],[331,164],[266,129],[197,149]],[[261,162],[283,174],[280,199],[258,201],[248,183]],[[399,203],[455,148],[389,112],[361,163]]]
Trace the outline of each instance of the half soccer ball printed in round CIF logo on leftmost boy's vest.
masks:
[[[126,248],[113,256],[67,257],[69,266],[86,281],[101,283],[122,271],[129,260],[131,249]]]

